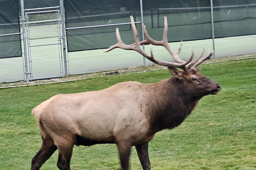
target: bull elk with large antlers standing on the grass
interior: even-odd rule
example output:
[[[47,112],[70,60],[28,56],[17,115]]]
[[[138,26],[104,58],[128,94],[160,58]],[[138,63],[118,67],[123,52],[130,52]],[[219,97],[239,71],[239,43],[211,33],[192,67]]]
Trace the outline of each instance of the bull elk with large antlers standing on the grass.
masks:
[[[59,94],[32,110],[42,136],[42,146],[32,158],[31,170],[38,170],[55,150],[59,150],[57,166],[70,170],[74,145],[116,143],[123,170],[129,169],[131,147],[135,146],[143,170],[150,170],[148,142],[162,129],[179,126],[190,115],[198,101],[206,95],[215,95],[221,86],[199,74],[197,65],[209,59],[203,52],[191,61],[179,58],[167,42],[167,19],[164,17],[162,41],[152,40],[143,25],[146,40],[139,42],[131,16],[134,44],[122,42],[116,28],[117,44],[109,47],[136,50],[156,64],[167,66],[173,77],[157,83],[122,82],[107,89],[76,94]],[[140,45],[151,43],[164,46],[176,63],[160,61],[146,53]],[[176,68],[181,68],[178,70]],[[111,102],[109,102],[111,101]]]

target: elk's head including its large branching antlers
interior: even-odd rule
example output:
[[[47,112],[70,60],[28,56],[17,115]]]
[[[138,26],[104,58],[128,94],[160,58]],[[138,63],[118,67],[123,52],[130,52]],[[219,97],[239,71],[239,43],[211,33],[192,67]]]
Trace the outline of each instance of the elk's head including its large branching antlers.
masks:
[[[217,82],[205,77],[202,74],[199,74],[200,69],[196,69],[196,66],[198,66],[199,64],[201,64],[202,62],[204,62],[205,60],[209,59],[212,56],[211,51],[209,51],[205,57],[201,58],[204,53],[204,48],[203,48],[202,52],[198,55],[198,57],[194,61],[192,61],[192,58],[194,56],[194,49],[193,49],[189,60],[184,61],[181,58],[179,58],[179,56],[178,56],[181,51],[181,48],[182,48],[182,42],[181,42],[180,47],[177,52],[173,51],[171,46],[168,44],[168,41],[167,41],[168,25],[167,25],[166,17],[164,17],[164,32],[163,32],[162,41],[156,41],[156,40],[151,39],[147,33],[145,25],[142,24],[143,29],[144,29],[144,34],[146,36],[146,40],[139,42],[138,32],[137,32],[136,26],[134,24],[133,17],[130,16],[130,19],[131,19],[131,25],[132,25],[132,29],[133,29],[135,43],[130,44],[130,45],[123,43],[121,40],[119,29],[116,28],[117,43],[115,45],[110,46],[105,52],[108,52],[114,48],[135,50],[135,51],[139,52],[140,54],[142,54],[147,59],[149,59],[150,61],[152,61],[158,65],[167,66],[169,68],[169,71],[172,74],[172,76],[175,77],[177,79],[177,81],[181,82],[181,84],[183,86],[185,86],[186,90],[190,91],[188,93],[190,93],[191,95],[194,95],[194,96],[198,96],[199,98],[201,98],[205,95],[208,95],[208,94],[217,94],[218,91],[221,90],[221,86]],[[161,60],[154,58],[152,48],[150,48],[151,54],[149,55],[147,52],[145,52],[140,47],[140,45],[142,45],[142,44],[153,44],[153,45],[164,46],[168,50],[168,52],[172,55],[172,57],[176,61],[176,63],[161,61]],[[178,70],[176,68],[181,68],[182,70]],[[184,87],[183,87],[183,89],[184,89]]]

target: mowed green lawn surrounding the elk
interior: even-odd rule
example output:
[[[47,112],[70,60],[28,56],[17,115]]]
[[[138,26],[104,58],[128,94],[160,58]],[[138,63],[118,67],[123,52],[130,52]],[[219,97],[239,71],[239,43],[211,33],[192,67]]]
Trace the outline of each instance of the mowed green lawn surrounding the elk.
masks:
[[[202,64],[201,73],[220,83],[222,90],[201,99],[178,128],[156,133],[149,142],[152,170],[255,170],[256,59]],[[31,110],[51,96],[101,90],[123,81],[153,83],[170,76],[168,70],[158,70],[0,89],[0,170],[30,169],[42,143]],[[57,170],[57,159],[58,151],[41,169]],[[71,169],[121,170],[117,148],[75,146]],[[130,169],[142,169],[134,147]]]

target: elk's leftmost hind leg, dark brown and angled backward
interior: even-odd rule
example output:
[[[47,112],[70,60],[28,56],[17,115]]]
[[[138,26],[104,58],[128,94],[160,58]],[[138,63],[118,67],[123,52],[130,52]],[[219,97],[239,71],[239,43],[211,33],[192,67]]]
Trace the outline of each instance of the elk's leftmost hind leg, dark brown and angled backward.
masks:
[[[31,170],[39,170],[57,149],[53,139],[48,134],[42,131],[41,136],[43,143],[37,154],[32,158]]]

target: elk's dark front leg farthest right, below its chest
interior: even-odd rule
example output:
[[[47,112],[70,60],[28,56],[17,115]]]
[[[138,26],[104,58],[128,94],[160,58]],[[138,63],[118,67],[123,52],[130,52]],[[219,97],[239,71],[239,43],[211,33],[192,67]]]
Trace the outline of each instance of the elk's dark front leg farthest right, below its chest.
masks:
[[[135,146],[135,148],[137,150],[143,170],[150,170],[151,166],[150,166],[150,161],[148,157],[148,142],[143,144],[138,144]]]

